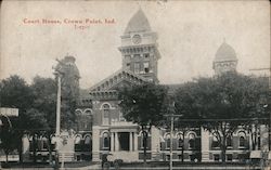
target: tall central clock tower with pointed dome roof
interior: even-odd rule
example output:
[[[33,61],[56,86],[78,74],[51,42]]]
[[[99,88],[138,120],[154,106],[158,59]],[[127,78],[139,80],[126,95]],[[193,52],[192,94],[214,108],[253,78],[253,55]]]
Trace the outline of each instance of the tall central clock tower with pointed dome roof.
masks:
[[[152,31],[149,21],[141,9],[129,21],[118,48],[122,55],[122,68],[158,83],[157,34]]]

